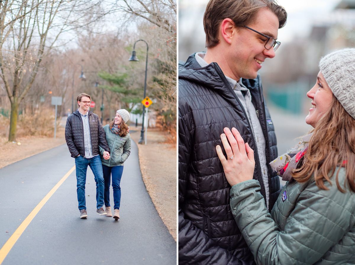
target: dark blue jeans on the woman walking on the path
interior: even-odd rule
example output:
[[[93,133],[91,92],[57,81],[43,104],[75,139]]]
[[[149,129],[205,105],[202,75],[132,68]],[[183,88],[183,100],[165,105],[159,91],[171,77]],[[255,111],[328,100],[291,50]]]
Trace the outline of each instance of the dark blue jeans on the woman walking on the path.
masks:
[[[112,175],[112,188],[113,188],[113,200],[114,200],[114,209],[120,209],[121,202],[121,177],[123,172],[123,166],[105,166],[102,165],[102,171],[104,172],[105,180],[105,192],[104,192],[104,201],[105,206],[110,206],[110,184],[111,184],[111,175]]]

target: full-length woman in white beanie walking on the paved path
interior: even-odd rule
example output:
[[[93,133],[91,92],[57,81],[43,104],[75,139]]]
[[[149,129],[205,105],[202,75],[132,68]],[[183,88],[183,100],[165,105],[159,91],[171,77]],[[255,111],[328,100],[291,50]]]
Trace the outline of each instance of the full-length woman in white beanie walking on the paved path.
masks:
[[[114,198],[114,215],[115,220],[120,218],[120,202],[121,202],[121,177],[123,172],[123,163],[131,153],[131,136],[127,126],[130,114],[127,110],[121,109],[116,112],[114,120],[104,126],[106,140],[110,147],[109,156],[104,156],[104,149],[100,148],[102,170],[105,180],[104,202],[106,216],[111,217],[110,206],[110,184],[112,177],[112,188]]]

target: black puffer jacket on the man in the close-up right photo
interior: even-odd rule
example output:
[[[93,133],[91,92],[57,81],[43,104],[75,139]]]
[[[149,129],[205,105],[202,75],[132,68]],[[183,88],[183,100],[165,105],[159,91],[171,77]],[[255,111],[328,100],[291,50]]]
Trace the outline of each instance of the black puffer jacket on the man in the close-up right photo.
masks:
[[[267,163],[277,157],[276,137],[264,105],[261,80],[244,79],[266,140]],[[254,179],[265,197],[258,152],[239,99],[216,63],[202,67],[191,55],[179,69],[179,264],[253,264],[230,210],[230,185],[215,146],[224,127],[235,127],[255,154]],[[269,210],[279,178],[269,170]],[[242,260],[242,261],[241,261]]]

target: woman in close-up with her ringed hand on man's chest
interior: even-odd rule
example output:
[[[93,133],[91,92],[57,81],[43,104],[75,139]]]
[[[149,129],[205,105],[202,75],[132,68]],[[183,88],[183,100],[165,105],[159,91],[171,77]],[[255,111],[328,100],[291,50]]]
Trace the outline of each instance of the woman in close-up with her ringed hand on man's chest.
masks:
[[[253,180],[254,151],[224,128],[216,150],[230,207],[257,264],[355,264],[355,49],[324,56],[308,91],[311,134],[271,162],[287,180],[271,211]],[[227,141],[229,140],[229,143]]]

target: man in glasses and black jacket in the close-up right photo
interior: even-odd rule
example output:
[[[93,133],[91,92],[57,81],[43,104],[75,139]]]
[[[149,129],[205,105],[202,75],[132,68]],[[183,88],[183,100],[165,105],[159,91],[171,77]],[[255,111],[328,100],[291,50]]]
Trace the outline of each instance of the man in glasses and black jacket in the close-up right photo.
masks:
[[[208,2],[207,52],[179,69],[179,264],[254,264],[215,146],[224,127],[237,128],[254,150],[254,178],[270,211],[279,191],[269,166],[277,147],[257,71],[275,56],[286,17],[274,0]]]

